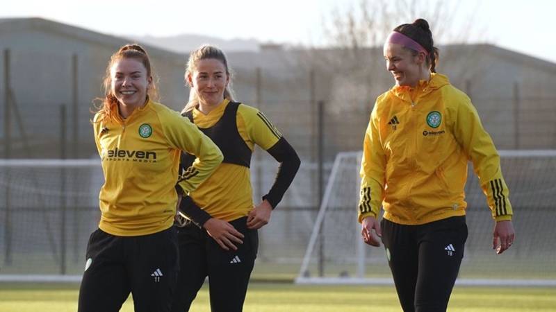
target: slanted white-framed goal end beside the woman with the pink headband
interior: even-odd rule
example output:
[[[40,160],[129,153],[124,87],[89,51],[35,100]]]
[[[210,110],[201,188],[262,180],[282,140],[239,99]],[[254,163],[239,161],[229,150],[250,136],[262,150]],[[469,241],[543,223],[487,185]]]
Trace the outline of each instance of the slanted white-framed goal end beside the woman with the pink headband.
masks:
[[[338,153],[306,248],[298,284],[391,284],[386,270],[368,277],[370,266],[385,264],[380,249],[366,248],[357,223],[361,151]],[[385,258],[384,258],[385,259]],[[383,266],[384,268],[384,266]],[[387,268],[387,264],[386,264]]]

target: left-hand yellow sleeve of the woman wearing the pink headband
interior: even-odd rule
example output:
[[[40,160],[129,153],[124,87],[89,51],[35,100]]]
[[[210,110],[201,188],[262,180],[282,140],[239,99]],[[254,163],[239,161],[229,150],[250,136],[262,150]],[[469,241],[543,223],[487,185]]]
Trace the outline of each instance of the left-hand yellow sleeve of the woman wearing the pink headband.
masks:
[[[361,159],[361,192],[359,196],[359,216],[361,222],[367,216],[377,218],[384,196],[384,172],[386,155],[379,136],[377,104],[370,114],[370,121],[363,140]]]

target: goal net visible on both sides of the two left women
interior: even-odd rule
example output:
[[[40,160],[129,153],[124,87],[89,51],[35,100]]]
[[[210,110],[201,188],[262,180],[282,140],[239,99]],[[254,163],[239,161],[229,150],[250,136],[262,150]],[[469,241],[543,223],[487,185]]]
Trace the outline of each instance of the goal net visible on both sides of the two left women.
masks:
[[[278,164],[270,155],[253,160],[258,203]],[[295,277],[316,214],[309,201],[316,168],[300,168],[272,222],[259,232],[256,278]],[[89,235],[99,223],[103,182],[98,157],[0,159],[0,281],[79,281]]]

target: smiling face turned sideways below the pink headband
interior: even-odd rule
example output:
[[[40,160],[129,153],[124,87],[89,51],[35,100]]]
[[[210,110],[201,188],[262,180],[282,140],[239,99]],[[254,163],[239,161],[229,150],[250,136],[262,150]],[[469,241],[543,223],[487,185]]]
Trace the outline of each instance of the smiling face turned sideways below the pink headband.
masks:
[[[386,68],[394,76],[396,85],[409,85],[414,87],[423,76],[423,62],[425,55],[414,55],[409,49],[404,49],[400,44],[387,43],[384,45],[384,59]]]

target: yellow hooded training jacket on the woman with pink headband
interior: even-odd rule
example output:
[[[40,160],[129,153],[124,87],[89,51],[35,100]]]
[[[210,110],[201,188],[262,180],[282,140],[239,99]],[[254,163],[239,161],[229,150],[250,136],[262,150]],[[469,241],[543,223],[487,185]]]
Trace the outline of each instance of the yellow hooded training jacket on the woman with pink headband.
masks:
[[[359,222],[381,204],[384,218],[404,225],[464,216],[468,159],[493,218],[511,220],[500,157],[468,96],[436,73],[393,87],[377,98],[365,133]]]

